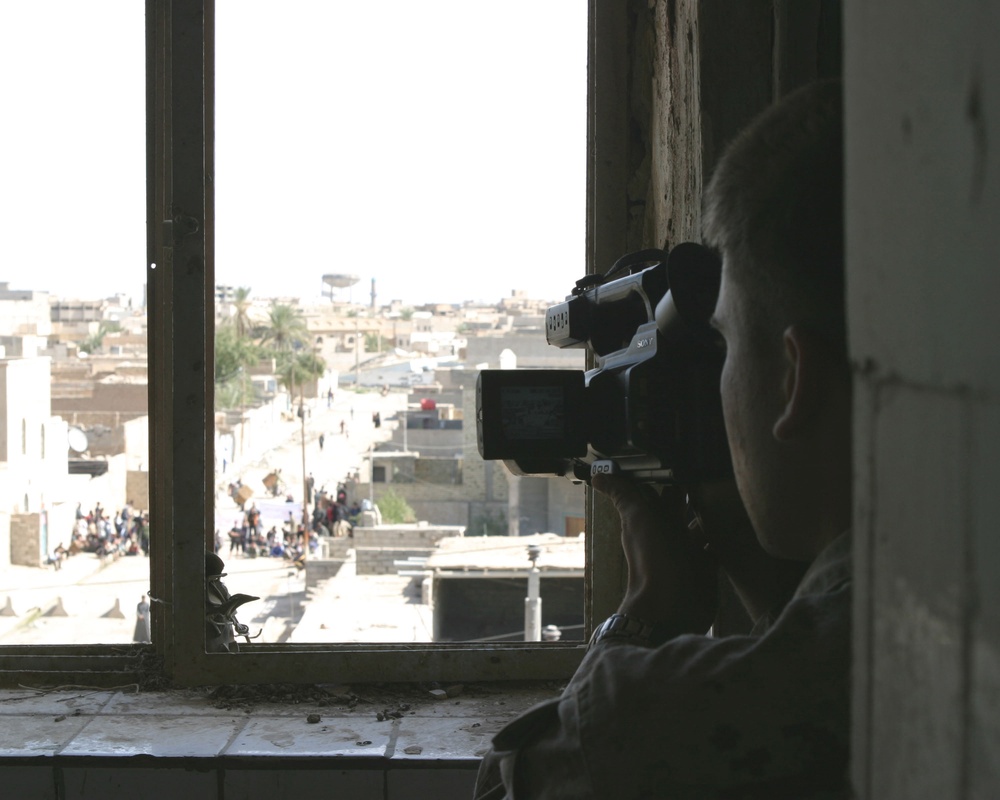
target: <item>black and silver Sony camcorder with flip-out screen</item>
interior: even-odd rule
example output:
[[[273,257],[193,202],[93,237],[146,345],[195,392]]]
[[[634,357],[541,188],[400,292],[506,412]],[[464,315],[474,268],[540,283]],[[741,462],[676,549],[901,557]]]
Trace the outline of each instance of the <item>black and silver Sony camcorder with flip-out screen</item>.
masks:
[[[709,324],[722,264],[695,243],[623,256],[578,281],[545,315],[556,347],[585,347],[593,369],[483,370],[479,453],[516,475],[589,481],[624,473],[656,484],[732,476]]]

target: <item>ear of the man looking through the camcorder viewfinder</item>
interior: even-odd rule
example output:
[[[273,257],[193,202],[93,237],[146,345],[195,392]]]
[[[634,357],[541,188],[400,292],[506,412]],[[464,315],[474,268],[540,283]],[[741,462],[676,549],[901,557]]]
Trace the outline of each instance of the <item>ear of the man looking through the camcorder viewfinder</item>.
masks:
[[[779,442],[788,442],[807,431],[823,403],[825,353],[815,335],[800,325],[786,328],[782,339],[785,407],[774,423],[773,433]]]

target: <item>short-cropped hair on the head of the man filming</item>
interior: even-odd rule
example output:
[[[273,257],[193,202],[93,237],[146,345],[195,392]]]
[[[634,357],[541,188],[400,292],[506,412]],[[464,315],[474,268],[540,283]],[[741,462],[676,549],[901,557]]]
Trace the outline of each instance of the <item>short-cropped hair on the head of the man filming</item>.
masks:
[[[704,228],[757,324],[805,323],[846,351],[842,129],[839,81],[783,98],[726,149]]]

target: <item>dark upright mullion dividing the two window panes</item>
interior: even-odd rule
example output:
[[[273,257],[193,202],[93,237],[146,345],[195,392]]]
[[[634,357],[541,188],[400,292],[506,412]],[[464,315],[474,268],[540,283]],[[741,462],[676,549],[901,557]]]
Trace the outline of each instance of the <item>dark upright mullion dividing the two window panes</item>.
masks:
[[[211,195],[207,157],[212,141],[211,0],[152,0],[157,81],[153,138],[161,144],[154,179],[160,223],[159,263],[152,270],[154,299],[153,424],[154,554],[164,601],[158,637],[171,677],[191,682],[204,661],[204,553],[211,509],[208,497],[212,403],[211,303],[213,284],[207,229]]]

